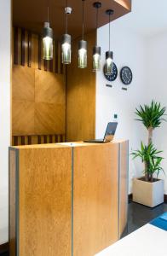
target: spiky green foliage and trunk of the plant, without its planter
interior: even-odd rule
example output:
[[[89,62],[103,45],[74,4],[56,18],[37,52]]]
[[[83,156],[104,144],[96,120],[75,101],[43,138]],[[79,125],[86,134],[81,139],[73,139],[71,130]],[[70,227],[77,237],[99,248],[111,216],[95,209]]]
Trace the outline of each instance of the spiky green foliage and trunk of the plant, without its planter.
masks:
[[[134,158],[140,157],[141,161],[144,163],[144,174],[145,180],[153,182],[153,174],[163,171],[161,162],[163,160],[158,154],[162,151],[158,151],[153,146],[153,130],[158,128],[163,121],[165,121],[164,116],[166,108],[161,107],[159,102],[152,101],[150,106],[144,105],[135,109],[135,114],[138,116],[138,121],[147,128],[148,131],[148,143],[144,145],[141,143],[141,149],[135,150],[132,154]]]

